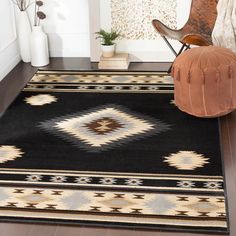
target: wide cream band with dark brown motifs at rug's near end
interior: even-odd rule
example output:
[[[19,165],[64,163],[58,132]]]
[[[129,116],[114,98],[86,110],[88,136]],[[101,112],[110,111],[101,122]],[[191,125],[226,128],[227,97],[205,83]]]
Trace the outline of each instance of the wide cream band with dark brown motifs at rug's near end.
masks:
[[[2,187],[1,206],[31,209],[71,210],[136,215],[161,215],[163,218],[175,212],[175,216],[224,217],[222,197],[204,195],[189,196],[165,193],[132,193],[122,191],[68,190],[45,188]],[[11,199],[11,201],[9,201]],[[207,206],[207,208],[206,208]],[[215,226],[223,226],[218,221]]]

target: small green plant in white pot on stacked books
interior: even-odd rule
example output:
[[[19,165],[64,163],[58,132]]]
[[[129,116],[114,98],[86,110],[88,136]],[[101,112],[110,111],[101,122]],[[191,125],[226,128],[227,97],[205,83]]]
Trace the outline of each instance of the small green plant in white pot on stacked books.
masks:
[[[103,57],[112,57],[115,54],[115,43],[114,41],[120,36],[116,31],[107,32],[101,29],[96,32],[96,39],[101,40],[101,49]]]

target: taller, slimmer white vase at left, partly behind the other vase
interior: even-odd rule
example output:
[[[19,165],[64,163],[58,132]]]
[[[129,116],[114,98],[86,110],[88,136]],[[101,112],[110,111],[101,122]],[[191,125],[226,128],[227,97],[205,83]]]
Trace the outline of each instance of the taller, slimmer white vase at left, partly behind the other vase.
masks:
[[[20,11],[18,14],[17,35],[21,59],[23,62],[30,62],[31,26],[26,11]]]

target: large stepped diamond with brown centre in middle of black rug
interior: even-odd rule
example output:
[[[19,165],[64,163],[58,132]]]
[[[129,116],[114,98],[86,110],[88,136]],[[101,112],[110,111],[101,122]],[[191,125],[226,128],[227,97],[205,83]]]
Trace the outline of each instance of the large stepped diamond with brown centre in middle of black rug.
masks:
[[[128,109],[107,105],[42,122],[40,127],[91,152],[164,132],[169,125]]]

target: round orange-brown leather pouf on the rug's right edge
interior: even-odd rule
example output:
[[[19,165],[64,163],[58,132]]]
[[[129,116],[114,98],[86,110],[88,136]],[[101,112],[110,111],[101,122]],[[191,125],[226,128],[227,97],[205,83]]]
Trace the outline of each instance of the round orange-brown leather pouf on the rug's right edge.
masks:
[[[177,107],[198,117],[218,117],[236,108],[236,54],[216,46],[189,49],[172,67]]]

